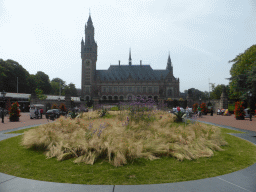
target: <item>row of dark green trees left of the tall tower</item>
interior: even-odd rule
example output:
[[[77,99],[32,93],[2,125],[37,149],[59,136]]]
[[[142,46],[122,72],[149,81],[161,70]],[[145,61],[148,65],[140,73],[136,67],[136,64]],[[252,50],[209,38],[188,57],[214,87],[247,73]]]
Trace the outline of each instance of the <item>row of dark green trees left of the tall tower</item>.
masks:
[[[38,71],[35,75],[29,74],[18,62],[13,60],[0,59],[0,90],[6,92],[34,93],[39,91],[44,94],[65,95],[70,92],[72,96],[77,96],[75,84],[66,82],[60,78],[54,78],[50,81],[49,76],[42,71]]]

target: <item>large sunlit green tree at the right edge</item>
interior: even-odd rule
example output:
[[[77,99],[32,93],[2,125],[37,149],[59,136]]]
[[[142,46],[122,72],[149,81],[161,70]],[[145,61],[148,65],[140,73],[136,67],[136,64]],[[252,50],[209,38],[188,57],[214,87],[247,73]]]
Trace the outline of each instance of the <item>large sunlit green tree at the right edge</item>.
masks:
[[[255,96],[254,72],[251,73],[251,71],[254,71],[254,66],[256,66],[256,45],[252,45],[244,53],[237,55],[235,59],[229,61],[231,62],[234,62],[230,70],[231,82],[229,83],[232,98],[245,99],[246,92],[249,90]]]

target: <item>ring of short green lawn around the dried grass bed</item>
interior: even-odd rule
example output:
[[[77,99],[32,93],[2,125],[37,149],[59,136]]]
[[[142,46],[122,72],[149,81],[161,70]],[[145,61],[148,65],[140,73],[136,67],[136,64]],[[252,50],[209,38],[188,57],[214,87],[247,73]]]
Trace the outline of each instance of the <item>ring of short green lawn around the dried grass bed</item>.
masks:
[[[31,128],[30,128],[31,129]],[[22,133],[25,130],[16,131]],[[173,183],[215,177],[244,169],[256,163],[256,146],[227,133],[242,133],[221,128],[229,143],[225,151],[214,151],[210,158],[178,161],[172,157],[157,160],[136,159],[121,167],[106,160],[94,165],[74,164],[73,159],[46,159],[43,151],[25,149],[20,145],[22,135],[0,142],[0,172],[17,177],[73,184],[138,185]]]

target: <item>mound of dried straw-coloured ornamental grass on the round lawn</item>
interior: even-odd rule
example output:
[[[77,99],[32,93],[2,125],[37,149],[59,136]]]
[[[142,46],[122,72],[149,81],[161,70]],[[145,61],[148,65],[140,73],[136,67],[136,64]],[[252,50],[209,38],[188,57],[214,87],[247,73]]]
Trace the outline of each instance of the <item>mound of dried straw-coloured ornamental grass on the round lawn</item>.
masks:
[[[123,113],[124,117],[127,113]],[[120,121],[120,113],[112,114],[116,116],[111,119],[100,119],[93,112],[74,120],[61,117],[54,123],[26,131],[22,145],[44,148],[47,158],[56,157],[58,161],[75,158],[74,163],[94,164],[96,159],[106,157],[114,166],[136,158],[154,160],[172,156],[182,161],[211,157],[214,150],[221,151],[220,146],[227,145],[219,128],[201,123],[176,127],[174,116],[166,112],[151,116],[145,113],[154,121],[139,123],[129,118]]]

